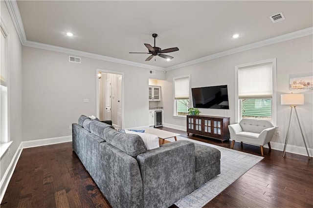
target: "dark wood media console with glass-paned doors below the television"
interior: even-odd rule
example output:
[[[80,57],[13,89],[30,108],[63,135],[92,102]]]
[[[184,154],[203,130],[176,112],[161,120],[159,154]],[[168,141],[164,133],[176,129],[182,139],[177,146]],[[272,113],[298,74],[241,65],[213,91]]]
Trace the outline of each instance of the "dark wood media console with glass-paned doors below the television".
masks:
[[[229,140],[229,118],[217,116],[187,115],[187,134],[193,133],[220,141]]]

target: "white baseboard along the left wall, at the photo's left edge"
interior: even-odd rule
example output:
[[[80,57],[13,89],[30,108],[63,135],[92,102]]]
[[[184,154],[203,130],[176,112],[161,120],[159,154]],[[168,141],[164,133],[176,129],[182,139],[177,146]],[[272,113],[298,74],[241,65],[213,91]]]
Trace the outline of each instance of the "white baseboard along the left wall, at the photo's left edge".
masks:
[[[4,193],[6,191],[6,188],[8,187],[9,182],[11,180],[11,177],[13,175],[13,172],[15,170],[15,167],[16,167],[19,159],[20,159],[21,153],[22,153],[22,143],[20,144],[19,148],[15,152],[15,154],[12,158],[12,161],[11,161],[10,165],[8,166],[8,168],[6,169],[6,171],[2,177],[2,180],[0,182],[0,202],[1,203],[2,203]]]

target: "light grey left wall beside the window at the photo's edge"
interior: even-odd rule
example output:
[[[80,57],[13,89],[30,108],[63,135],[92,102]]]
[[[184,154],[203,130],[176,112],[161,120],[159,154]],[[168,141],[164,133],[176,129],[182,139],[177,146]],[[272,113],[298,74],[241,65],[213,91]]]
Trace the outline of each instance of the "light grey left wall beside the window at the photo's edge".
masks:
[[[0,160],[0,178],[2,180],[22,141],[22,45],[5,2],[1,0],[0,4],[1,19],[9,34],[9,132],[10,140],[13,141],[10,146],[10,154],[6,151]]]

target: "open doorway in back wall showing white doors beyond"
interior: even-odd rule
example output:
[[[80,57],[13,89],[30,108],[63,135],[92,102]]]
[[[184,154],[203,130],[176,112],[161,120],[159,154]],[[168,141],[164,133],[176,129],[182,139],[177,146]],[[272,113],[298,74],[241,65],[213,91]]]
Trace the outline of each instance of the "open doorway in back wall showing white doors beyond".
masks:
[[[115,128],[123,128],[123,73],[96,69],[96,74],[97,117],[100,121],[111,120]]]

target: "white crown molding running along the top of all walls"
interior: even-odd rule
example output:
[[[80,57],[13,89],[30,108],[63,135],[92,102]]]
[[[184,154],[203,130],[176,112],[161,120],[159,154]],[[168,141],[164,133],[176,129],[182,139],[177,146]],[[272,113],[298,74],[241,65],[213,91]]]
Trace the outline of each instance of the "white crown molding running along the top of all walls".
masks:
[[[20,14],[19,7],[17,5],[17,1],[16,0],[5,0],[5,3],[8,7],[9,13],[10,13],[12,21],[13,21],[13,24],[16,28],[16,31],[18,33],[18,36],[19,36],[20,41],[21,41],[23,46],[40,48],[40,49],[45,49],[45,50],[50,50],[50,51],[55,51],[55,52],[60,52],[60,53],[67,53],[67,54],[72,54],[72,55],[76,55],[76,56],[88,57],[88,58],[92,58],[92,59],[98,59],[98,60],[103,60],[103,61],[108,61],[108,62],[121,63],[121,64],[126,64],[126,65],[148,68],[148,69],[154,69],[154,70],[161,70],[161,71],[169,71],[169,70],[173,70],[173,69],[178,69],[181,67],[185,67],[185,66],[189,66],[189,65],[193,65],[193,64],[197,64],[197,63],[201,63],[201,62],[206,62],[206,61],[209,61],[212,59],[217,59],[217,58],[232,55],[235,53],[240,53],[243,51],[247,51],[247,50],[251,50],[251,49],[255,49],[255,48],[259,48],[259,47],[263,47],[263,46],[267,46],[267,45],[271,45],[271,44],[275,44],[275,43],[279,43],[279,42],[289,41],[292,39],[301,38],[301,37],[308,36],[308,35],[313,35],[313,27],[308,27],[306,29],[287,33],[287,34],[284,34],[281,36],[276,36],[274,38],[270,38],[267,40],[250,43],[250,44],[243,45],[243,46],[240,46],[237,48],[232,48],[230,50],[222,51],[222,52],[212,54],[209,56],[205,56],[205,57],[202,57],[200,59],[195,59],[195,60],[192,60],[189,62],[180,63],[180,64],[170,66],[170,67],[160,67],[160,66],[153,66],[153,65],[144,64],[144,63],[138,63],[138,62],[131,62],[131,61],[126,61],[126,60],[122,60],[122,59],[116,59],[116,58],[112,58],[112,57],[108,57],[108,56],[102,56],[99,54],[93,54],[93,53],[88,53],[88,52],[84,52],[84,51],[73,50],[73,49],[69,49],[69,48],[65,48],[65,47],[59,47],[59,46],[49,45],[49,44],[40,43],[40,42],[28,41],[26,39],[25,30],[24,30],[23,23],[22,23],[22,17]]]

